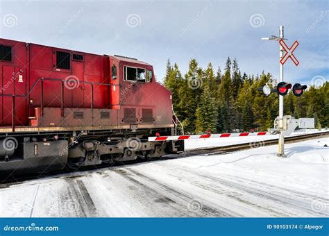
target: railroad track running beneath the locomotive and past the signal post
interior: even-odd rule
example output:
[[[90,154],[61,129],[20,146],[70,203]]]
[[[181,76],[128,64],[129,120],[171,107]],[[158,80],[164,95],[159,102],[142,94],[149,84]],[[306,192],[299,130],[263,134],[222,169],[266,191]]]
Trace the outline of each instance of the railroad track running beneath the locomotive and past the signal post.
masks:
[[[323,132],[323,133],[312,133],[312,134],[306,134],[306,135],[296,135],[292,137],[285,137],[285,143],[290,144],[294,142],[301,142],[305,140],[312,140],[315,138],[319,137],[328,137],[329,136],[329,131]],[[246,149],[253,149],[253,148],[258,148],[260,146],[270,146],[270,145],[275,145],[278,144],[278,138],[272,139],[272,140],[264,140],[264,141],[257,141],[257,142],[248,142],[248,143],[243,143],[243,144],[234,144],[234,145],[229,145],[229,146],[218,146],[218,147],[211,147],[211,148],[202,148],[202,149],[193,149],[191,151],[185,151],[182,155],[180,153],[179,155],[166,155],[162,158],[156,158],[153,160],[168,160],[172,158],[187,158],[188,156],[193,156],[193,155],[218,155],[218,154],[225,154],[225,153],[230,153],[233,151],[242,151]],[[49,173],[44,173],[44,174],[37,174],[37,175],[29,175],[29,176],[24,176],[24,177],[15,177],[12,176],[12,178],[6,178],[5,180],[0,178],[0,188],[3,187],[9,187],[10,185],[17,185],[24,183],[28,180],[36,180],[38,178],[46,178],[46,177],[57,177],[60,178],[62,176],[67,175],[69,176],[78,176],[78,175],[83,175],[84,172],[91,171],[93,169],[103,169],[103,168],[108,168],[108,167],[119,167],[122,165],[130,165],[130,164],[136,164],[140,162],[145,162],[146,160],[133,160],[129,162],[117,162],[115,165],[100,165],[99,168],[88,168],[88,169],[79,169],[77,171],[56,171],[56,172],[49,172]]]

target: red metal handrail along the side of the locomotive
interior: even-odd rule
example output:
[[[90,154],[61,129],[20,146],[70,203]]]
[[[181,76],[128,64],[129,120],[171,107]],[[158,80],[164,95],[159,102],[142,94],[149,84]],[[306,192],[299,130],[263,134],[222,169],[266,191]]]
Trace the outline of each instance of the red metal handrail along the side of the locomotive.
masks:
[[[26,99],[30,94],[35,90],[35,87],[37,87],[38,83],[41,83],[41,92],[40,92],[40,110],[41,110],[41,116],[43,115],[43,106],[44,106],[44,81],[58,81],[61,83],[61,115],[64,116],[64,87],[65,87],[65,79],[60,78],[47,78],[47,77],[40,77],[37,78],[37,81],[33,83],[30,90],[28,90],[28,93],[26,95],[17,95],[17,94],[0,94],[0,96],[9,96],[12,98],[12,132],[15,132],[15,117],[16,117],[16,98],[21,97]],[[67,80],[66,82],[69,82]],[[110,83],[95,83],[90,81],[78,81],[79,84],[90,84],[91,86],[91,109],[94,109],[94,85],[105,85],[105,86],[119,86],[119,85],[112,85]]]

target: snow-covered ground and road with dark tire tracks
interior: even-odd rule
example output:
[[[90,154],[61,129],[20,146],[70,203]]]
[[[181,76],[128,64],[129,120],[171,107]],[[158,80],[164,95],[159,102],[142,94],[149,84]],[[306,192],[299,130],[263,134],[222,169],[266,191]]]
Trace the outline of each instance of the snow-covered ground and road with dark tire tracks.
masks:
[[[200,142],[200,141],[199,141]],[[0,217],[328,217],[329,138],[0,185]]]

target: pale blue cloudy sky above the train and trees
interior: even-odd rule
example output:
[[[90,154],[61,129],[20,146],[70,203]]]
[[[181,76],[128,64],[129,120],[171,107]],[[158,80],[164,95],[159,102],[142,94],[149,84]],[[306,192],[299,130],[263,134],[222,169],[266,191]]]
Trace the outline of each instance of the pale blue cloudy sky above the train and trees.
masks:
[[[284,81],[320,85],[329,76],[328,1],[3,1],[0,37],[153,65],[161,81],[167,60],[185,74],[189,60],[223,68],[237,58],[242,73],[279,76],[279,44],[261,40],[285,27]]]

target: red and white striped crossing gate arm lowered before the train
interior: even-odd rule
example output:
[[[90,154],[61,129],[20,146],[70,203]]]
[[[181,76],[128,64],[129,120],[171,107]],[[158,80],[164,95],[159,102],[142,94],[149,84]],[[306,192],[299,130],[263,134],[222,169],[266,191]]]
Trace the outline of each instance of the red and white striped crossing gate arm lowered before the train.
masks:
[[[246,136],[261,136],[261,135],[271,135],[271,133],[255,132],[255,133],[220,133],[214,135],[158,136],[158,137],[149,137],[149,141],[196,140],[196,139],[208,139],[213,137],[246,137]]]

